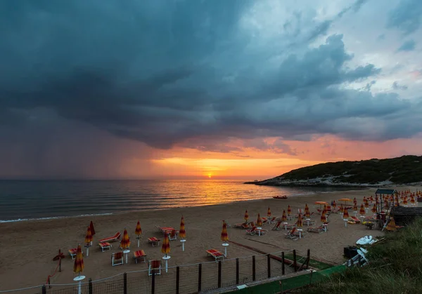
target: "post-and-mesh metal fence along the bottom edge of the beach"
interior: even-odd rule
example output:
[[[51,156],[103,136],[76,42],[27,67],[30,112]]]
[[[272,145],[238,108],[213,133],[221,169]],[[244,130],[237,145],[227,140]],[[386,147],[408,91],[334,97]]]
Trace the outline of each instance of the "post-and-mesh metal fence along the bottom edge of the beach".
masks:
[[[286,251],[287,253],[287,251]],[[274,276],[282,276],[307,269],[309,250],[298,254],[296,250],[293,260],[284,258],[284,252],[251,255],[243,258],[204,262],[193,265],[169,267],[167,272],[161,268],[161,274],[148,269],[136,272],[125,272],[105,279],[85,283],[52,284],[32,288],[0,291],[12,294],[131,294],[131,293],[198,293],[242,285],[252,281],[262,281]],[[305,256],[305,257],[304,257]]]

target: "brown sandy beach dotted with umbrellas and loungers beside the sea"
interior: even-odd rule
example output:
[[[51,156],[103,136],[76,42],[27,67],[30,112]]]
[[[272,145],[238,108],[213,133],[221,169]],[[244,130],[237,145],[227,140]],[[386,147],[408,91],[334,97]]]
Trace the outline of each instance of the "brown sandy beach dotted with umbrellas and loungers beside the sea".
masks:
[[[399,190],[406,189],[401,187]],[[411,191],[416,187],[410,187]],[[418,187],[418,189],[420,189]],[[84,275],[93,280],[113,276],[127,271],[147,269],[146,263],[135,264],[132,258],[133,250],[138,250],[134,230],[137,220],[140,220],[142,227],[141,246],[145,250],[148,259],[160,259],[162,253],[160,246],[152,247],[147,243],[150,236],[162,238],[155,225],[162,227],[171,226],[179,229],[181,215],[184,215],[186,222],[186,250],[182,252],[181,243],[170,241],[172,256],[169,265],[184,265],[198,262],[209,262],[205,250],[222,248],[220,233],[222,220],[229,224],[243,222],[245,209],[248,210],[250,221],[256,220],[257,213],[267,216],[267,208],[271,208],[273,216],[281,217],[283,209],[290,205],[293,214],[298,208],[304,208],[308,204],[311,212],[316,211],[314,201],[338,200],[343,197],[357,198],[358,204],[362,203],[364,196],[370,196],[376,189],[362,189],[348,192],[333,192],[314,194],[312,196],[297,196],[286,200],[265,199],[260,201],[244,201],[215,206],[201,206],[192,208],[174,208],[165,211],[146,211],[136,213],[120,213],[115,215],[101,215],[97,217],[62,218],[52,220],[34,220],[24,222],[1,223],[0,238],[0,290],[37,286],[46,282],[49,274],[54,272],[57,262],[53,257],[57,255],[58,249],[65,253],[66,258],[62,262],[63,271],[56,274],[51,280],[52,283],[72,283],[74,274],[72,272],[73,261],[68,255],[69,248],[75,248],[78,243],[84,245],[84,236],[87,226],[91,220],[94,221],[96,235],[94,246],[90,248],[89,257],[84,258]],[[350,213],[352,215],[352,213]],[[369,212],[371,215],[371,212]],[[319,225],[319,216],[313,218]],[[331,215],[328,225],[328,232],[324,234],[309,233],[305,238],[297,241],[286,239],[284,229],[271,231],[274,225],[264,225],[269,229],[264,236],[250,236],[245,234],[243,229],[228,229],[229,239],[246,246],[259,248],[266,253],[273,253],[281,250],[296,249],[305,251],[310,249],[311,256],[321,258],[339,264],[343,262],[343,248],[353,245],[357,239],[371,234],[381,236],[383,233],[378,230],[369,231],[364,225],[349,225],[345,227],[340,215]],[[290,223],[295,220],[290,221]],[[96,245],[98,239],[113,236],[115,232],[123,232],[127,228],[132,239],[129,255],[129,264],[112,267],[110,255],[117,252],[118,242],[113,243],[113,249],[104,253]],[[306,230],[306,226],[303,228]],[[85,250],[85,248],[84,248]],[[255,252],[230,244],[228,257],[236,258],[253,255]]]

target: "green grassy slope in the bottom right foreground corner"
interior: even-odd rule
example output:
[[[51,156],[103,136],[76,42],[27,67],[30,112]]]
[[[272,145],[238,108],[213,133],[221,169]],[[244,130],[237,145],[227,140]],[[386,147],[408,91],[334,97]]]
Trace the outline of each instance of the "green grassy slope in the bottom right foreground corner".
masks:
[[[422,218],[370,246],[369,265],[333,274],[300,293],[421,293]],[[297,293],[297,292],[296,292]]]

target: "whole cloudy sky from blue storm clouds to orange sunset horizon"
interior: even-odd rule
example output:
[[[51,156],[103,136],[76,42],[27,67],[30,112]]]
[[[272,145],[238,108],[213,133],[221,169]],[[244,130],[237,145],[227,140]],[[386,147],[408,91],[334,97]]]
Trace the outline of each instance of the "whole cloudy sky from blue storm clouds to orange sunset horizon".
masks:
[[[421,154],[421,0],[0,1],[0,178]]]

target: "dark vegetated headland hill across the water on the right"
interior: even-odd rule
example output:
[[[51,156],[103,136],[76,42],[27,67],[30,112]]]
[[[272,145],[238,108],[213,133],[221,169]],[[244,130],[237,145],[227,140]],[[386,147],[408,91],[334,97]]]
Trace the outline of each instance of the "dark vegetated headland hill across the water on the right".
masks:
[[[332,182],[335,184],[377,184],[384,181],[395,184],[422,182],[422,156],[407,155],[393,159],[320,163],[315,166],[289,171],[267,181],[295,181],[315,178],[324,180],[324,178],[329,177],[334,177]]]

